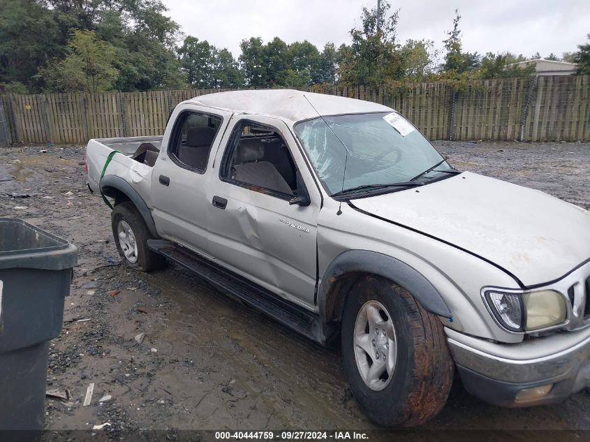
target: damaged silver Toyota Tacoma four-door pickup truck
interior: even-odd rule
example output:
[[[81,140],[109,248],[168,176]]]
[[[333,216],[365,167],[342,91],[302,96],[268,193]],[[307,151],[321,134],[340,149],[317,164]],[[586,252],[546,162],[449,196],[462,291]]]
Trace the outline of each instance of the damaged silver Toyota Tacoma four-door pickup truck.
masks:
[[[129,267],[172,261],[320,344],[339,334],[374,422],[434,417],[455,369],[501,406],[590,385],[590,213],[459,172],[390,108],[199,96],[163,137],[90,140],[87,168]]]

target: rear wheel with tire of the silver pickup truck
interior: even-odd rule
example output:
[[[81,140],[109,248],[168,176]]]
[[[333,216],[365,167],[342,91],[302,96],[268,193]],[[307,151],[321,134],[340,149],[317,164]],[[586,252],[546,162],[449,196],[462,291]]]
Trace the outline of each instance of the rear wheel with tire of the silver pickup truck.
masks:
[[[154,237],[133,202],[117,204],[111,213],[112,236],[121,260],[132,269],[151,272],[165,266],[162,256],[147,248]]]

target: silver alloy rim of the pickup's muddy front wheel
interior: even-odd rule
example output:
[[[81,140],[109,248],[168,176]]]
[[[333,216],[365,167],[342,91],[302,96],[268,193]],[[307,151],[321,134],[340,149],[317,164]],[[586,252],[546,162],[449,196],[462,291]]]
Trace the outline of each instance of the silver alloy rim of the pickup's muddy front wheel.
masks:
[[[397,362],[397,338],[391,316],[381,302],[371,300],[360,308],[353,346],[357,369],[371,390],[387,387]]]

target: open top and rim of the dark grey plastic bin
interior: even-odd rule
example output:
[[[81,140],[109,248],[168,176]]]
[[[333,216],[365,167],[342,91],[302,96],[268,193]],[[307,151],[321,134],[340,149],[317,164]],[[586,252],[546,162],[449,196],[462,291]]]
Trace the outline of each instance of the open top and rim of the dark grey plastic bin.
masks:
[[[78,248],[22,219],[0,218],[0,269],[63,270],[73,267]]]

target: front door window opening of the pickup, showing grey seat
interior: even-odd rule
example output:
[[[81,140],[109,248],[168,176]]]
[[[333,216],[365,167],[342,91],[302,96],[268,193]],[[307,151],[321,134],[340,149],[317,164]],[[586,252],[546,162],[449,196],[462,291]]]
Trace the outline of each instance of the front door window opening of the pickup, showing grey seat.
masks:
[[[293,156],[281,135],[273,128],[245,122],[230,138],[221,177],[287,199],[297,186],[295,172]]]

